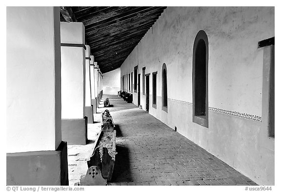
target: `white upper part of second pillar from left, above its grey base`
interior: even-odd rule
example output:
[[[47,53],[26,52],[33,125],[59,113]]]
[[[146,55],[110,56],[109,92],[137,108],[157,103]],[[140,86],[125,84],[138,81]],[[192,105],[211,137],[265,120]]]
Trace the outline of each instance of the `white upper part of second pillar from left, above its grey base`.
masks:
[[[61,43],[85,43],[81,22],[60,22]],[[88,78],[87,78],[88,80]],[[85,49],[61,46],[61,118],[84,118]]]

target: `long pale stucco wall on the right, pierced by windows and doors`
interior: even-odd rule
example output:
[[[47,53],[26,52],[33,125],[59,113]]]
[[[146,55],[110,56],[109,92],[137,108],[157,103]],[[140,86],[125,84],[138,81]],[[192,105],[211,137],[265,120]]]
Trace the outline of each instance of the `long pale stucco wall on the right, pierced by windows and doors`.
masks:
[[[182,135],[258,184],[274,184],[274,139],[263,134],[260,121],[225,112],[261,117],[263,50],[258,42],[274,36],[274,8],[168,7],[152,28],[121,65],[120,77],[139,66],[142,108],[141,68],[145,66],[145,74],[150,73],[150,114],[171,128],[177,126]],[[208,106],[221,111],[209,108],[209,128],[192,122],[193,45],[200,30],[209,42]],[[163,63],[168,113],[161,110]],[[156,109],[151,100],[155,71]],[[133,99],[137,104],[137,93]]]

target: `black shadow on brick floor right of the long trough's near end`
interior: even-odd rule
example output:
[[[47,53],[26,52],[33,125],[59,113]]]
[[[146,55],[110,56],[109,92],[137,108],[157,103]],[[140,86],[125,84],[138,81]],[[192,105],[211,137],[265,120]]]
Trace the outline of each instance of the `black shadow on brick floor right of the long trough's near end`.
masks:
[[[116,146],[116,161],[110,183],[132,182],[129,162],[129,149],[125,146]]]

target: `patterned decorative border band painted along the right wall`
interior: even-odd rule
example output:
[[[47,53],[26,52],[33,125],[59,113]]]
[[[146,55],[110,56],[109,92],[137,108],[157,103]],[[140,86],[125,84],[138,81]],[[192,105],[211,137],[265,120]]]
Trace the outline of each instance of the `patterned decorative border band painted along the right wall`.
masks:
[[[168,100],[183,103],[183,104],[187,104],[189,106],[193,105],[192,103],[180,101],[180,100],[176,100],[176,99],[169,99],[168,98]],[[225,110],[225,109],[216,108],[216,107],[209,107],[209,110],[215,111],[215,112],[218,112],[218,113],[222,113],[222,114],[232,115],[232,116],[241,117],[241,118],[244,118],[244,119],[249,119],[249,120],[261,122],[261,116],[258,116],[258,115],[241,113],[241,112],[238,112],[238,111]]]

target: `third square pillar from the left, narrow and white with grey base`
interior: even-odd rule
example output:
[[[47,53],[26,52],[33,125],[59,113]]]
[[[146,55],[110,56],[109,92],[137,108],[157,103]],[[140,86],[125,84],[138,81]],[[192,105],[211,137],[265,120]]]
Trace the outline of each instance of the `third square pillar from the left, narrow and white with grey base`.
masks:
[[[91,96],[91,72],[90,72],[90,46],[86,46],[86,53],[85,53],[85,116],[88,118],[88,123],[94,123],[94,116],[93,116],[93,106],[92,106],[92,96]]]

